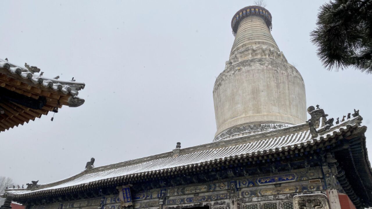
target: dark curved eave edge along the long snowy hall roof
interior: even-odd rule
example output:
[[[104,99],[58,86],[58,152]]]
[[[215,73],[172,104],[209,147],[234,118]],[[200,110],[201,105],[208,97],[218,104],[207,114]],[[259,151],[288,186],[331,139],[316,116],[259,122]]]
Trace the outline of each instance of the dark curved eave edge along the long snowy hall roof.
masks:
[[[78,184],[74,186],[62,187],[58,189],[41,189],[35,191],[29,191],[27,193],[18,193],[12,192],[15,195],[15,200],[22,201],[28,198],[40,198],[43,196],[49,195],[58,195],[58,194],[65,194],[71,192],[79,192],[84,190],[91,190],[97,189],[99,187],[105,186],[113,186],[120,183],[128,183],[128,182],[137,182],[143,180],[150,180],[157,177],[166,177],[170,175],[180,174],[180,173],[187,173],[193,171],[200,171],[200,170],[208,170],[215,166],[222,166],[222,165],[229,165],[229,164],[236,164],[239,162],[247,162],[247,161],[254,161],[254,158],[265,157],[265,159],[273,158],[273,154],[278,153],[299,153],[305,151],[314,151],[317,149],[322,149],[327,146],[332,146],[337,140],[340,140],[343,136],[350,131],[353,131],[357,127],[359,127],[360,121],[357,120],[358,118],[349,120],[340,126],[335,127],[334,130],[326,131],[323,134],[320,134],[317,138],[312,138],[311,140],[307,141],[306,143],[298,143],[288,145],[286,147],[280,147],[275,149],[264,149],[257,152],[250,152],[241,155],[231,155],[229,157],[224,158],[216,158],[214,160],[203,161],[200,163],[193,163],[187,164],[177,167],[170,167],[167,169],[161,170],[153,170],[147,172],[140,172],[140,173],[133,173],[123,176],[117,176],[112,178],[106,178],[102,180],[91,181],[89,183]],[[89,172],[89,171],[85,171]],[[25,191],[23,191],[25,192]]]

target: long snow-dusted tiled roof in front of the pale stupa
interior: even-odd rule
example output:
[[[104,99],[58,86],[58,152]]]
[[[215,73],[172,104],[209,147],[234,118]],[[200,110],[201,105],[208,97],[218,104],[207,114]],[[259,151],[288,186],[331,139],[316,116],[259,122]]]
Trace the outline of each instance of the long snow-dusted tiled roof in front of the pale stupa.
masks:
[[[331,126],[327,131],[319,129],[317,137],[312,137],[308,123],[283,129],[237,137],[228,141],[218,141],[195,147],[174,149],[150,157],[138,158],[122,163],[86,169],[64,180],[41,184],[37,190],[7,190],[15,194],[15,199],[30,196],[45,196],[79,190],[92,189],[100,185],[147,179],[207,169],[211,165],[243,159],[270,160],[273,154],[298,153],[320,148],[334,143],[335,138],[365,126],[360,126],[362,118],[356,116]],[[264,161],[265,161],[264,160]]]

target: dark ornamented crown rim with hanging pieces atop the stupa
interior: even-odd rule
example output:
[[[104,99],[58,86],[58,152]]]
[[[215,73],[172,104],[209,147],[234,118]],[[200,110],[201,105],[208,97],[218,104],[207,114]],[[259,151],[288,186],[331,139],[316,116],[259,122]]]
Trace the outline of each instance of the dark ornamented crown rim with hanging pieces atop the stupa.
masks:
[[[262,19],[265,21],[267,25],[267,28],[269,28],[270,30],[272,29],[271,23],[272,16],[267,9],[260,6],[247,6],[244,7],[243,9],[240,9],[237,13],[235,13],[234,17],[232,17],[231,28],[234,36],[236,35],[236,32],[238,30],[240,21],[248,16],[262,17]]]

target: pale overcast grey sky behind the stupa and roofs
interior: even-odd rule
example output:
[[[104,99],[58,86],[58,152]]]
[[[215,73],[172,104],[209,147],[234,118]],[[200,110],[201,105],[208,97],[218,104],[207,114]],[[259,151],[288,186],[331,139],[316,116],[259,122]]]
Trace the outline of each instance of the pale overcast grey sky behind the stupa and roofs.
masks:
[[[309,41],[324,0],[268,0],[272,35],[305,81],[307,106],[371,126],[372,75],[324,69]],[[1,1],[0,58],[84,82],[83,106],[0,133],[0,176],[48,183],[96,166],[213,140],[212,89],[253,0]],[[371,139],[371,128],[366,133]],[[372,144],[367,141],[372,152]],[[370,155],[371,159],[371,155]]]

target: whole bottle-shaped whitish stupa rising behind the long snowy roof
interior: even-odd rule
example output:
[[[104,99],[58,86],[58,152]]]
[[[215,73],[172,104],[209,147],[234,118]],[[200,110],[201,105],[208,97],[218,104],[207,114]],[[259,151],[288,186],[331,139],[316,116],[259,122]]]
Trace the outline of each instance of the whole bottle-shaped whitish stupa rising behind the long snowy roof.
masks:
[[[231,27],[235,40],[213,89],[214,141],[304,123],[304,80],[270,33],[270,12],[244,7],[235,13]]]

